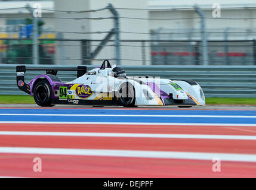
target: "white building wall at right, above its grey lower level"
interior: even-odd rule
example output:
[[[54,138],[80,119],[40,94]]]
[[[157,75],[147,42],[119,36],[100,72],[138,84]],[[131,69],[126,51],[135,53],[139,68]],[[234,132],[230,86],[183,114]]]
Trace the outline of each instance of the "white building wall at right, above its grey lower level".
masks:
[[[255,3],[256,7],[256,3]],[[212,33],[208,34],[209,40],[223,40],[223,33],[225,29],[229,28],[230,32],[241,32],[241,31],[256,31],[256,20],[255,19],[245,19],[245,18],[256,18],[256,9],[221,9],[221,18],[212,17],[213,9],[202,9],[206,15],[206,31],[211,31]],[[195,29],[195,31],[200,31],[201,19],[193,18],[199,17],[193,9],[182,9],[182,10],[168,10],[168,11],[150,11],[150,18],[159,18],[159,19],[170,19],[170,20],[150,20],[149,28],[150,29],[169,29],[163,30],[166,33],[181,33],[189,31],[189,29]],[[184,19],[177,19],[184,18]],[[185,19],[193,18],[193,19]],[[235,19],[224,19],[224,18],[239,18]],[[172,39],[187,39],[189,34],[172,34]],[[230,33],[230,40],[248,40],[255,39],[255,33]],[[167,35],[162,34],[162,39],[168,39]],[[194,33],[192,35],[193,39],[200,39],[200,33]]]

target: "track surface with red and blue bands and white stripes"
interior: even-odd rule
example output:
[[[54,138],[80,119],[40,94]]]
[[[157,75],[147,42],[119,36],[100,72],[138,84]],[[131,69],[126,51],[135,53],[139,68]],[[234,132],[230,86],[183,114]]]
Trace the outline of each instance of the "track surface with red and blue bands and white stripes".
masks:
[[[1,105],[0,161],[2,177],[255,178],[256,109]]]

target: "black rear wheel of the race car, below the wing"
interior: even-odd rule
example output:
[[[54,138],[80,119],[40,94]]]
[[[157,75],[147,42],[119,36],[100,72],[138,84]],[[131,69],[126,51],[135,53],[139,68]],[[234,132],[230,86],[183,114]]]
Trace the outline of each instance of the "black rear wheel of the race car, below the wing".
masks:
[[[47,80],[41,80],[33,87],[33,97],[37,105],[41,107],[53,107],[51,105],[51,85]]]

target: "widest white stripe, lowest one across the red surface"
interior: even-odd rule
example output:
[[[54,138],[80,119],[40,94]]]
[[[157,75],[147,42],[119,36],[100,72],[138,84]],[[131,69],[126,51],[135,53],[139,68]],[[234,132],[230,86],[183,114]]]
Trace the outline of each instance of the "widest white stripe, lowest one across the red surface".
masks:
[[[0,153],[141,157],[141,158],[154,158],[154,159],[192,159],[192,160],[212,160],[214,158],[218,158],[221,161],[256,162],[256,154],[193,153],[193,152],[176,152],[176,151],[0,147]]]

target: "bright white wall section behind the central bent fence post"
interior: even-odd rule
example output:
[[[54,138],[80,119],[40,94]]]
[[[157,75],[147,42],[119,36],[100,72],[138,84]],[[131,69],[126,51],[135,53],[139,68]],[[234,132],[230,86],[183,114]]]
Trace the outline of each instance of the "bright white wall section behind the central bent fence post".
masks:
[[[91,1],[90,8],[98,9],[106,7],[107,4],[111,3],[115,8],[147,8],[147,0],[129,0],[129,1],[120,1],[120,0],[101,0],[101,1]],[[149,18],[147,10],[128,10],[128,9],[116,9],[120,17],[135,17],[135,18]],[[92,13],[95,17],[104,17],[105,15],[111,16],[109,10]],[[149,21],[148,20],[131,20],[126,18],[120,18],[120,31],[126,31],[131,33],[120,33],[121,40],[149,40],[149,34],[134,34],[132,32],[138,33],[149,33]],[[91,22],[91,31],[101,31],[101,30],[110,30],[113,28],[113,20],[101,20],[101,21],[92,21]],[[106,34],[92,34],[91,39],[102,39]],[[113,38],[112,38],[113,39]],[[112,42],[113,44],[113,42]],[[142,50],[140,42],[121,42],[121,64],[124,65],[141,65],[142,61]],[[149,46],[147,43],[146,46]],[[150,60],[150,48],[146,47],[145,58]],[[114,47],[105,47],[100,54],[97,56],[97,59],[104,58],[115,58],[115,48]],[[132,60],[131,60],[132,59]],[[96,64],[96,62],[94,62]],[[150,62],[147,62],[150,64]]]

